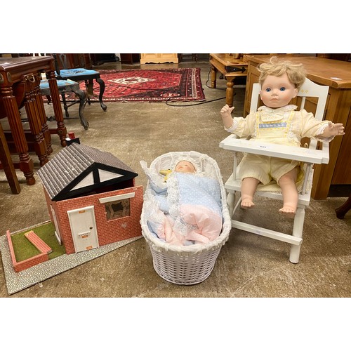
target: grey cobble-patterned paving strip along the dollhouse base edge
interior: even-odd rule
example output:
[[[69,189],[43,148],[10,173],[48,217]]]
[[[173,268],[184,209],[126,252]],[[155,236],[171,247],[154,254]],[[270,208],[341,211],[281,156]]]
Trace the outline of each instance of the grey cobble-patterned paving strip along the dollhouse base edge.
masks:
[[[47,260],[46,262],[39,263],[38,265],[30,267],[27,270],[15,272],[15,270],[13,270],[13,262],[11,259],[11,252],[8,246],[7,237],[6,235],[2,235],[0,237],[0,251],[8,294],[11,295],[13,293],[17,293],[18,291],[29,288],[29,286],[44,282],[44,280],[48,278],[54,277],[62,272],[66,272],[67,270],[71,270],[74,267],[119,249],[121,246],[125,246],[126,244],[140,238],[142,238],[141,235],[140,237],[132,237],[114,242],[112,244],[100,246],[96,249],[81,251],[69,255],[65,254],[58,256],[57,258]]]

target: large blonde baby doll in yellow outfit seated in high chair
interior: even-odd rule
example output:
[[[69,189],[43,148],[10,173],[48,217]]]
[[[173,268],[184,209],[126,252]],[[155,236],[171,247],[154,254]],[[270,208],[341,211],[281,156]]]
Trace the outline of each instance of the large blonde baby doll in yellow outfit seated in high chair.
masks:
[[[260,99],[265,106],[250,112],[246,117],[232,118],[234,107],[225,107],[220,114],[225,130],[240,138],[251,136],[266,143],[300,146],[301,138],[331,141],[336,135],[343,135],[343,124],[318,121],[305,110],[296,111],[297,106],[289,105],[305,81],[305,69],[301,64],[279,61],[271,58],[262,63],[259,83]],[[283,207],[279,213],[293,218],[298,204],[296,183],[303,177],[300,162],[285,159],[271,159],[267,156],[246,154],[241,160],[239,176],[241,183],[241,208],[251,208],[253,195],[258,184],[266,185],[274,179],[282,189]]]

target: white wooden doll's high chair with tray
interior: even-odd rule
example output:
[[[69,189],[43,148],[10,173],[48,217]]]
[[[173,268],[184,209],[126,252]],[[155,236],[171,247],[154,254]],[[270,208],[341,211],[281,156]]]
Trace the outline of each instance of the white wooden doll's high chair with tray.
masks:
[[[322,121],[324,117],[324,108],[326,105],[326,98],[328,96],[329,87],[319,86],[313,83],[310,79],[306,79],[303,86],[301,86],[298,93],[297,101],[293,102],[298,105],[300,109],[305,108],[307,112],[313,112],[314,117]],[[257,110],[259,102],[260,84],[253,84],[253,91],[251,96],[251,111]],[[306,98],[311,98],[306,101]],[[318,100],[316,101],[316,98]],[[308,102],[305,104],[305,102]],[[314,105],[314,103],[317,104]],[[307,108],[307,105],[309,108]],[[316,109],[314,111],[314,109]],[[320,142],[319,142],[320,143]],[[220,147],[225,150],[234,151],[234,169],[230,178],[225,183],[225,189],[227,190],[227,204],[230,210],[230,216],[232,217],[232,227],[246,232],[262,235],[264,237],[270,237],[279,241],[285,241],[291,244],[290,257],[291,263],[298,263],[300,256],[300,246],[303,241],[303,223],[305,220],[305,208],[310,204],[310,195],[312,188],[313,178],[313,164],[328,164],[329,162],[329,143],[322,144],[322,150],[317,150],[317,140],[310,140],[309,147],[293,147],[284,145],[274,145],[268,143],[256,143],[253,144],[250,140],[240,139],[237,135],[231,134],[220,142]],[[282,159],[293,159],[297,161],[303,161],[306,165],[305,179],[303,181],[302,189],[298,195],[298,208],[296,210],[296,216],[293,220],[293,230],[291,234],[284,232],[276,232],[267,228],[258,227],[256,225],[250,225],[245,222],[234,220],[234,213],[237,211],[241,203],[241,197],[237,196],[237,203],[235,204],[235,193],[239,194],[241,187],[241,180],[237,178],[237,152],[262,154],[270,157],[277,157]],[[272,183],[272,182],[271,182]],[[277,183],[266,185],[266,189],[269,186],[269,190],[265,190],[264,186],[258,186],[256,195],[260,197],[268,197],[271,199],[279,199],[283,201],[282,192]],[[273,188],[272,188],[273,186]],[[274,189],[276,187],[276,189]],[[269,211],[269,209],[267,208]],[[246,210],[253,211],[253,210]],[[277,214],[278,216],[278,214]],[[245,217],[245,216],[244,216]]]

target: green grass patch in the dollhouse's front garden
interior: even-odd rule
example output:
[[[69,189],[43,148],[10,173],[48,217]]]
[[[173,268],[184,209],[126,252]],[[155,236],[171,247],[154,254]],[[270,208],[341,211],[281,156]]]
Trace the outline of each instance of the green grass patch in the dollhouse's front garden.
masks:
[[[55,237],[55,225],[53,225],[52,222],[48,222],[11,235],[13,251],[15,251],[17,262],[27,260],[28,258],[39,255],[40,253],[40,251],[25,237],[25,233],[29,232],[29,230],[33,230],[41,240],[45,241],[46,244],[51,247],[53,252],[48,254],[49,260],[66,253],[65,246],[58,244],[58,240]]]

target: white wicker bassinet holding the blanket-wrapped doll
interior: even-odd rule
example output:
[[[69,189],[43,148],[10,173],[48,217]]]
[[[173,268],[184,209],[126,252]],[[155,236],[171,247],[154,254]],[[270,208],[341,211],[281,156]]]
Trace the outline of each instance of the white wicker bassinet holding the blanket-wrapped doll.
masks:
[[[163,154],[154,159],[150,164],[150,169],[159,173],[161,169],[170,168],[173,159],[176,157],[191,157],[199,160],[205,174],[214,175],[218,179],[223,204],[223,228],[220,236],[208,244],[194,244],[191,246],[178,246],[161,241],[150,232],[147,226],[145,203],[141,213],[140,224],[143,237],[150,245],[154,270],[156,270],[157,274],[173,284],[192,285],[203,282],[211,274],[220,249],[229,237],[232,225],[227,208],[225,187],[218,164],[214,159],[195,151],[168,152],[168,154]],[[150,182],[147,183],[147,188],[149,187]]]

